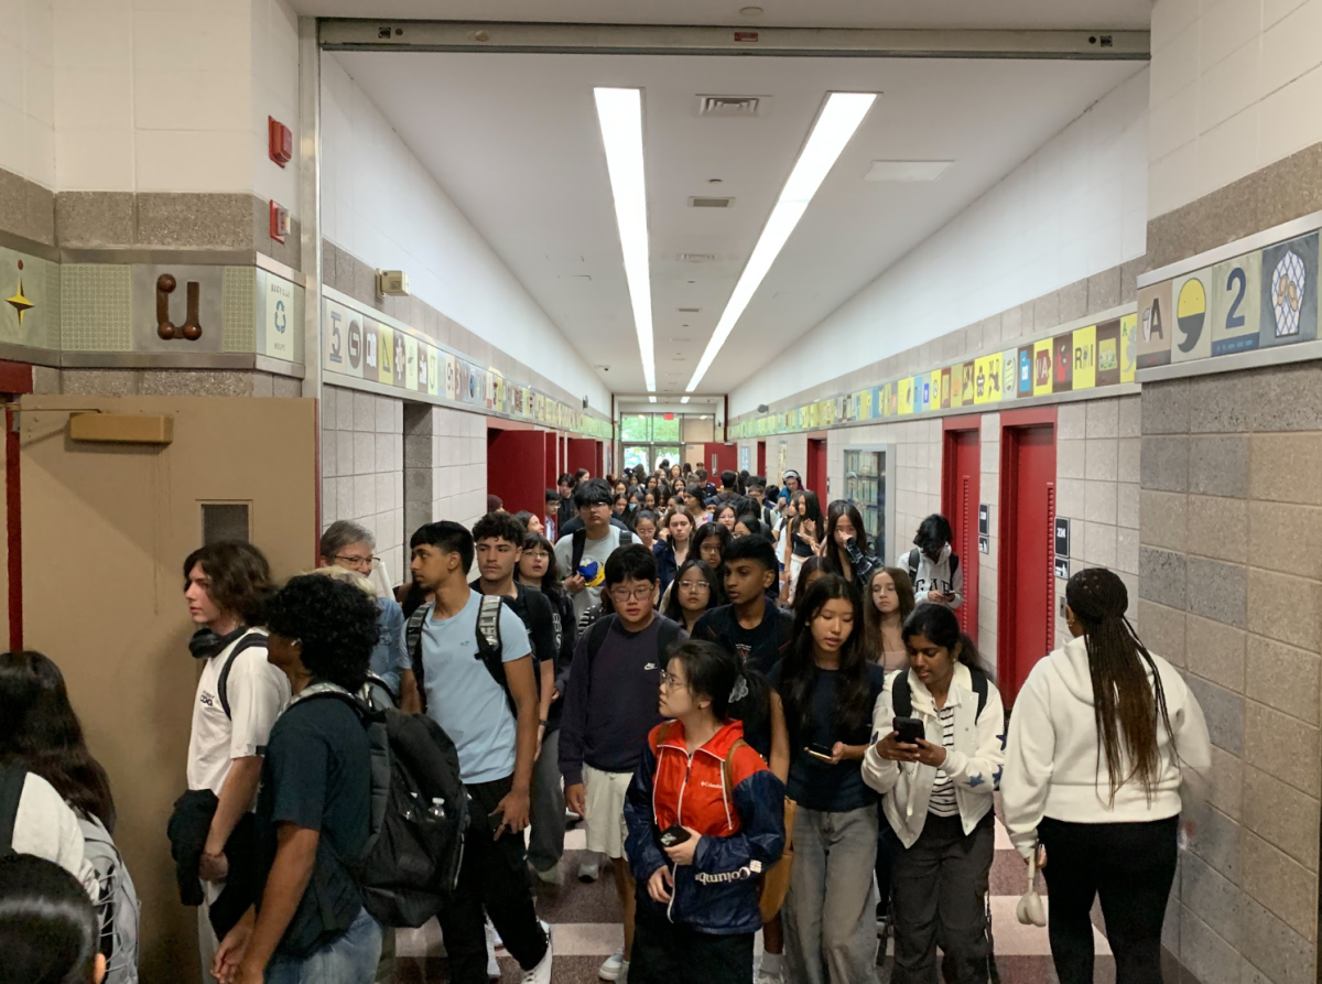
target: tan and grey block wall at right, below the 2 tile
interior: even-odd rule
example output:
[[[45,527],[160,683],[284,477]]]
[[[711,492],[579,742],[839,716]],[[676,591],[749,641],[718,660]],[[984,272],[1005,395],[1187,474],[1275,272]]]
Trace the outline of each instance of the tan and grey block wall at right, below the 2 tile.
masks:
[[[1166,947],[1203,984],[1313,981],[1322,365],[1145,384],[1140,485],[1140,631],[1215,746]]]

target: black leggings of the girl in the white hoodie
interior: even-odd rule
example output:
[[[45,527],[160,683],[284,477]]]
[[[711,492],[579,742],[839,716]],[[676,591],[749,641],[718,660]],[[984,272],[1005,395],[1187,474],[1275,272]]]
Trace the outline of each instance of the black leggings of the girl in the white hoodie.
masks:
[[[1175,880],[1179,817],[1136,824],[1072,824],[1044,817],[1042,874],[1060,984],[1091,984],[1093,898],[1101,898],[1116,984],[1161,984],[1161,927]]]

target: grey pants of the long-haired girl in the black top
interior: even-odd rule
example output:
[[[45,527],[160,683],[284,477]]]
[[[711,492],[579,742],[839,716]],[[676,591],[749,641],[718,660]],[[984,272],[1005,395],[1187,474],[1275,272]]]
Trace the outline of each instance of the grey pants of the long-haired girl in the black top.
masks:
[[[876,807],[795,812],[785,895],[785,979],[858,984],[876,977]]]

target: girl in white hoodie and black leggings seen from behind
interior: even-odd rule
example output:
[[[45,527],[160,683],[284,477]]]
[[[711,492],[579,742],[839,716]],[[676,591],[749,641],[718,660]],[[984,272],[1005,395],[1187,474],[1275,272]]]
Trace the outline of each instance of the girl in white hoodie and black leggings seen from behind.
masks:
[[[1100,898],[1117,984],[1161,981],[1161,928],[1175,877],[1186,770],[1211,767],[1207,722],[1183,677],[1125,618],[1104,567],[1066,586],[1073,639],[1040,660],[1014,705],[1001,796],[1010,840],[1040,845],[1060,984],[1093,973]]]

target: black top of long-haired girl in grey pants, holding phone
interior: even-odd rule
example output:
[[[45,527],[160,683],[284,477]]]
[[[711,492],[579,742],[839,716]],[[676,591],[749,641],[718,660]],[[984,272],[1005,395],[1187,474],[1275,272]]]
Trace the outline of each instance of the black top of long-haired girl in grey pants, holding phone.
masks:
[[[784,667],[784,663],[777,663],[768,676],[771,685],[777,692],[781,690],[780,678]],[[871,693],[867,701],[867,716],[861,727],[845,731],[834,719],[838,671],[821,668],[813,668],[812,727],[806,734],[800,734],[797,721],[787,719],[785,722],[789,726],[789,783],[785,795],[806,809],[842,813],[876,803],[876,792],[863,782],[862,762],[845,760],[833,766],[804,750],[808,745],[830,749],[836,742],[846,745],[866,745],[869,742],[873,729],[873,706],[886,685],[886,673],[874,663],[869,663],[866,669]]]

